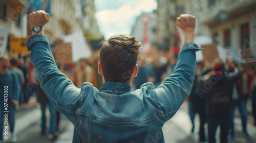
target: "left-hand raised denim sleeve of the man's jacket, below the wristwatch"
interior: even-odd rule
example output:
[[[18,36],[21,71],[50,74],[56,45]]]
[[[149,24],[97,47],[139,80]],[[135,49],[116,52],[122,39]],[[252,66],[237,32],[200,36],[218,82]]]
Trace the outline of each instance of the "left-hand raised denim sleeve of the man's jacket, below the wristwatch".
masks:
[[[79,106],[80,89],[59,71],[45,36],[33,35],[25,43],[31,50],[38,83],[55,108],[71,121]]]

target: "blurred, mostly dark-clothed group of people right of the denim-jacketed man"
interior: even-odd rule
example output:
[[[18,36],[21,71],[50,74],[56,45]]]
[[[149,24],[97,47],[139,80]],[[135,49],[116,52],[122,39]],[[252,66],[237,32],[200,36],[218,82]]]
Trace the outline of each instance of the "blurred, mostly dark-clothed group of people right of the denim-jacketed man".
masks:
[[[246,101],[255,98],[255,84],[253,75],[247,74],[236,61],[231,58],[224,63],[220,58],[215,58],[212,64],[197,63],[197,74],[191,89],[189,100],[189,116],[194,132],[194,118],[196,113],[200,117],[199,141],[205,142],[204,125],[208,124],[208,141],[215,142],[215,134],[220,125],[221,142],[233,141],[234,111],[238,107],[242,120],[242,133],[245,138],[250,136],[247,132]],[[251,92],[250,92],[251,91]],[[255,112],[255,103],[253,103]],[[255,114],[255,113],[254,113]],[[256,118],[254,116],[254,126]],[[229,134],[229,139],[228,139]]]

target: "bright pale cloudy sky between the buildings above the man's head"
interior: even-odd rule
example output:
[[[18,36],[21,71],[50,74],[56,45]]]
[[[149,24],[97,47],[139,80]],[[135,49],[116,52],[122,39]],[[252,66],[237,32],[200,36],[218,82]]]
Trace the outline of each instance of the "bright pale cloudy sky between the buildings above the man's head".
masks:
[[[156,0],[95,0],[100,32],[105,38],[116,33],[130,35],[136,18],[142,12],[153,12]]]

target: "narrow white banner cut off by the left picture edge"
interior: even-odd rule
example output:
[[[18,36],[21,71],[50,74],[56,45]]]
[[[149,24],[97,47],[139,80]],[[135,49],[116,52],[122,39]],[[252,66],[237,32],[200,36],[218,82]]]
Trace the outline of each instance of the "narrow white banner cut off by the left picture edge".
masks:
[[[8,39],[8,28],[0,28],[0,57],[5,54]]]

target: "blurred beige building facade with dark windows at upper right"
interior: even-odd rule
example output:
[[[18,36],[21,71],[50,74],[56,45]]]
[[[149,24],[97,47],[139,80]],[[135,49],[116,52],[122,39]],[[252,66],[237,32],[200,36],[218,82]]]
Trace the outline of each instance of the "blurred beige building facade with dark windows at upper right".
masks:
[[[255,0],[187,0],[185,12],[196,16],[196,35],[212,37],[226,49],[249,52],[241,56],[256,57]]]

